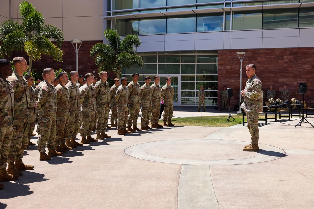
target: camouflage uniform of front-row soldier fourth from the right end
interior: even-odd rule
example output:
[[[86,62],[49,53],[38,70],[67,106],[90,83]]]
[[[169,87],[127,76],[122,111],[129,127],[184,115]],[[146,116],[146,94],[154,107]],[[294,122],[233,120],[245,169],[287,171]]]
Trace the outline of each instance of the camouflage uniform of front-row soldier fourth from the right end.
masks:
[[[131,81],[129,85],[127,85],[129,91],[128,91],[128,98],[129,98],[129,117],[127,121],[127,126],[131,127],[137,125],[137,119],[139,115],[139,109],[140,109],[140,96],[139,91],[141,90],[141,86],[139,83],[134,83]]]

